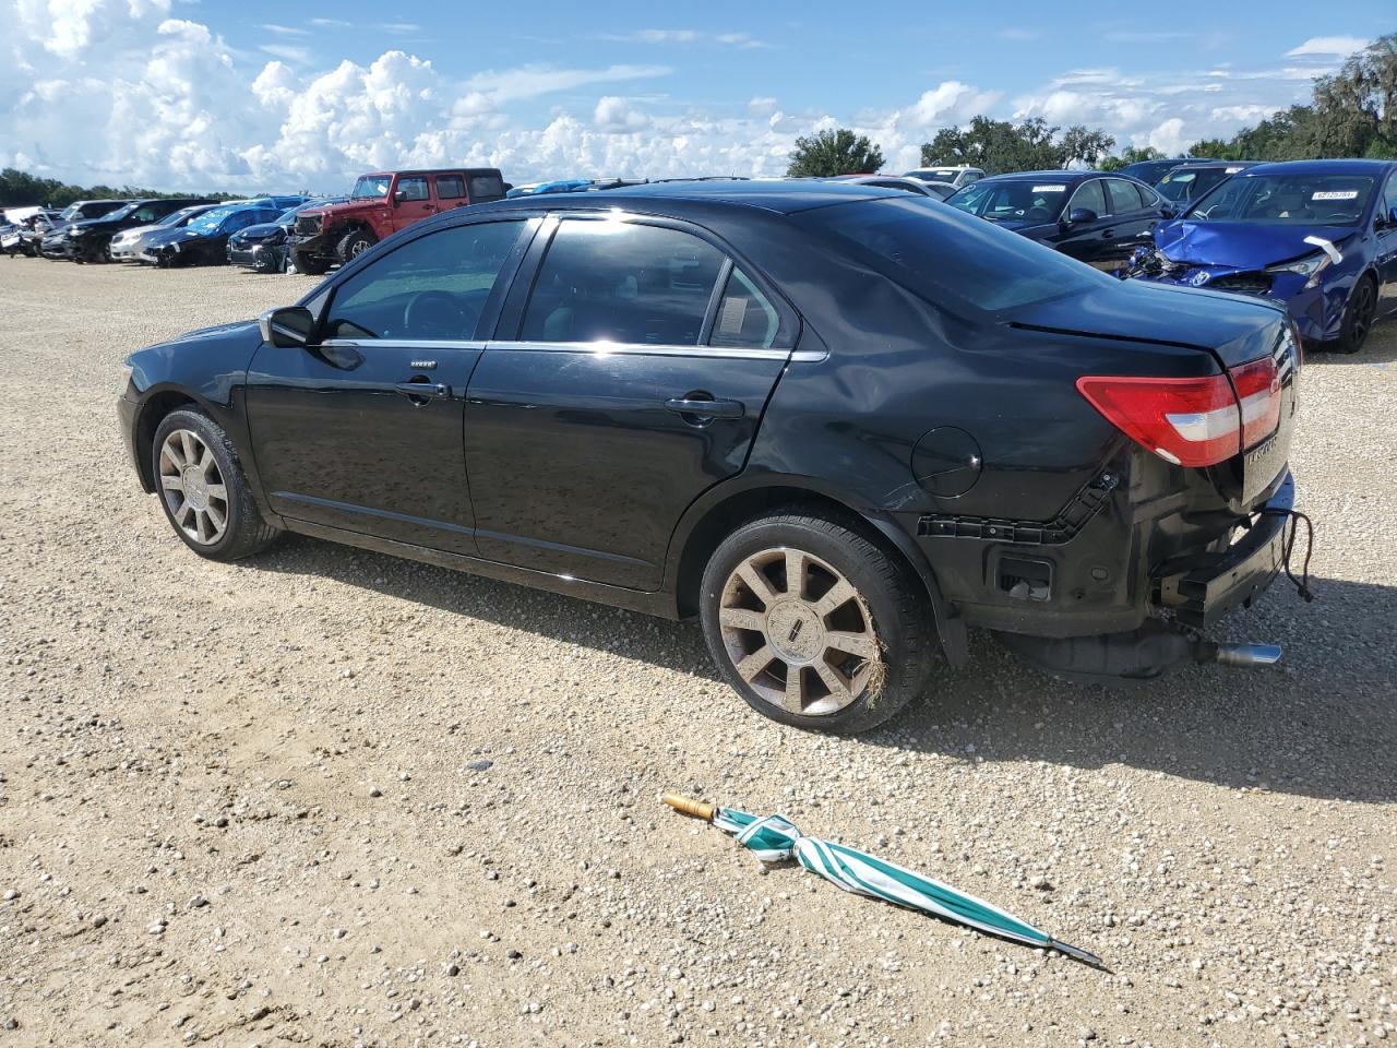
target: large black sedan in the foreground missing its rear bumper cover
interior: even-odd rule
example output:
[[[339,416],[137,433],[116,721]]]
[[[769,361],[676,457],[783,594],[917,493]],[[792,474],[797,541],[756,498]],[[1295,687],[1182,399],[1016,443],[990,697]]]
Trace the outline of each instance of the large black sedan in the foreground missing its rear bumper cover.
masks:
[[[1278,654],[1199,632],[1281,558],[1285,312],[1115,281],[925,197],[461,208],[127,365],[131,461],[196,553],[296,531],[697,615],[785,724],[887,720],[967,626],[1085,678]]]

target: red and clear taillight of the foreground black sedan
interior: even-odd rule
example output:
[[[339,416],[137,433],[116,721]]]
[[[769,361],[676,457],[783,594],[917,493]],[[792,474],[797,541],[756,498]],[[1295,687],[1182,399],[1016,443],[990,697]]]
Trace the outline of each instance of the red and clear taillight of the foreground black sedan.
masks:
[[[1271,358],[1206,379],[1085,376],[1077,390],[1120,432],[1176,465],[1225,463],[1281,418]]]

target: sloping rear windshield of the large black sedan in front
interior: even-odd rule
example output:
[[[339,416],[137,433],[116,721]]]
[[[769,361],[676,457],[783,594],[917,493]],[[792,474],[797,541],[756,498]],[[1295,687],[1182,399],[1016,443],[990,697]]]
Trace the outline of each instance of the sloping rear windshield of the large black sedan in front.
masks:
[[[926,197],[837,204],[793,219],[852,245],[875,268],[951,310],[963,305],[997,313],[1112,282],[1090,265]]]

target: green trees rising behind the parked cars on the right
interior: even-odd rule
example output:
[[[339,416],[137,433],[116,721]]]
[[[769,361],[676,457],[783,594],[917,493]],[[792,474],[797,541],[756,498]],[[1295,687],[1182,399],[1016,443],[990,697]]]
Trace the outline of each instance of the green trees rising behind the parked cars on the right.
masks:
[[[1041,117],[1014,124],[977,116],[967,127],[942,129],[925,143],[922,166],[970,165],[1002,175],[1069,166],[1118,170],[1136,161],[1165,158],[1148,145],[1127,145],[1113,154],[1115,144],[1101,129],[1083,124],[1063,130]],[[1222,161],[1397,159],[1397,34],[1351,54],[1333,75],[1317,77],[1309,105],[1282,109],[1231,138],[1193,143],[1187,155]],[[798,138],[787,173],[830,177],[876,172],[883,161],[883,151],[868,136],[841,127]]]

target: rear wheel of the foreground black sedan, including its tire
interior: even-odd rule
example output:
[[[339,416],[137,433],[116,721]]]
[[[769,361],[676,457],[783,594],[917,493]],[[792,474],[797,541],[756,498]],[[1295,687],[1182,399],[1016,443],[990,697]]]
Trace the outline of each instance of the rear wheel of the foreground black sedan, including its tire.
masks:
[[[750,521],[719,544],[698,615],[733,690],[764,717],[814,731],[883,724],[922,693],[937,651],[926,594],[905,565],[844,524],[798,510]]]

